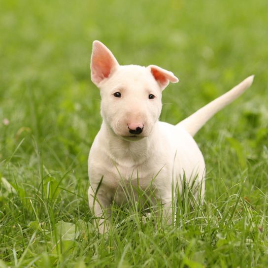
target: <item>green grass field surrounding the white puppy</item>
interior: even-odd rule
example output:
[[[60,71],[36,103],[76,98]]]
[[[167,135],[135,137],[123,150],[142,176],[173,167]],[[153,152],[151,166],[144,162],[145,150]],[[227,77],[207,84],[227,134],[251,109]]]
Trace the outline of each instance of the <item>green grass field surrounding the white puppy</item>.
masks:
[[[0,268],[268,267],[268,1],[0,0]],[[95,232],[87,157],[100,123],[92,41],[121,64],[179,77],[176,123],[245,77],[252,87],[196,135],[205,203],[156,228],[135,206]]]

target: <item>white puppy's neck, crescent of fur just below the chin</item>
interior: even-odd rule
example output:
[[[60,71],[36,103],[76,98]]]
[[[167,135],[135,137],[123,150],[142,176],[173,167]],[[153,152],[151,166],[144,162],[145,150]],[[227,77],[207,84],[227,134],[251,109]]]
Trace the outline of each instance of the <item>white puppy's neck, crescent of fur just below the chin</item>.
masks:
[[[150,159],[156,144],[156,127],[148,137],[137,141],[128,141],[116,135],[113,130],[102,122],[100,139],[105,154],[116,164],[125,167],[135,167]]]

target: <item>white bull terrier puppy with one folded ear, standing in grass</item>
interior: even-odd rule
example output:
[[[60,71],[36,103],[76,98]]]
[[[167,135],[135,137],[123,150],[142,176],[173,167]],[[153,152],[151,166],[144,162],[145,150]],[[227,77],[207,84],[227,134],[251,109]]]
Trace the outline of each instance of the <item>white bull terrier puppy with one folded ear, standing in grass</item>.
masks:
[[[128,201],[130,185],[154,192],[167,217],[173,189],[182,190],[182,177],[188,184],[195,179],[196,198],[203,200],[205,163],[193,136],[241,95],[253,77],[173,126],[158,119],[162,91],[178,78],[154,65],[120,66],[106,46],[93,42],[91,79],[100,89],[103,122],[89,154],[88,197],[100,233],[108,228],[104,216],[109,218],[112,202]]]

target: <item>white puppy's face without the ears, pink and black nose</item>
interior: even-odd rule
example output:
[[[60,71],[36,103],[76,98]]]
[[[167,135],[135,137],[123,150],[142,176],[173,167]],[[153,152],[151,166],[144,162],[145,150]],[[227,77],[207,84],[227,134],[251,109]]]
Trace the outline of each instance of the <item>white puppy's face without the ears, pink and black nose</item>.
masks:
[[[101,115],[128,140],[148,136],[161,112],[161,90],[148,68],[119,66],[100,86]]]

